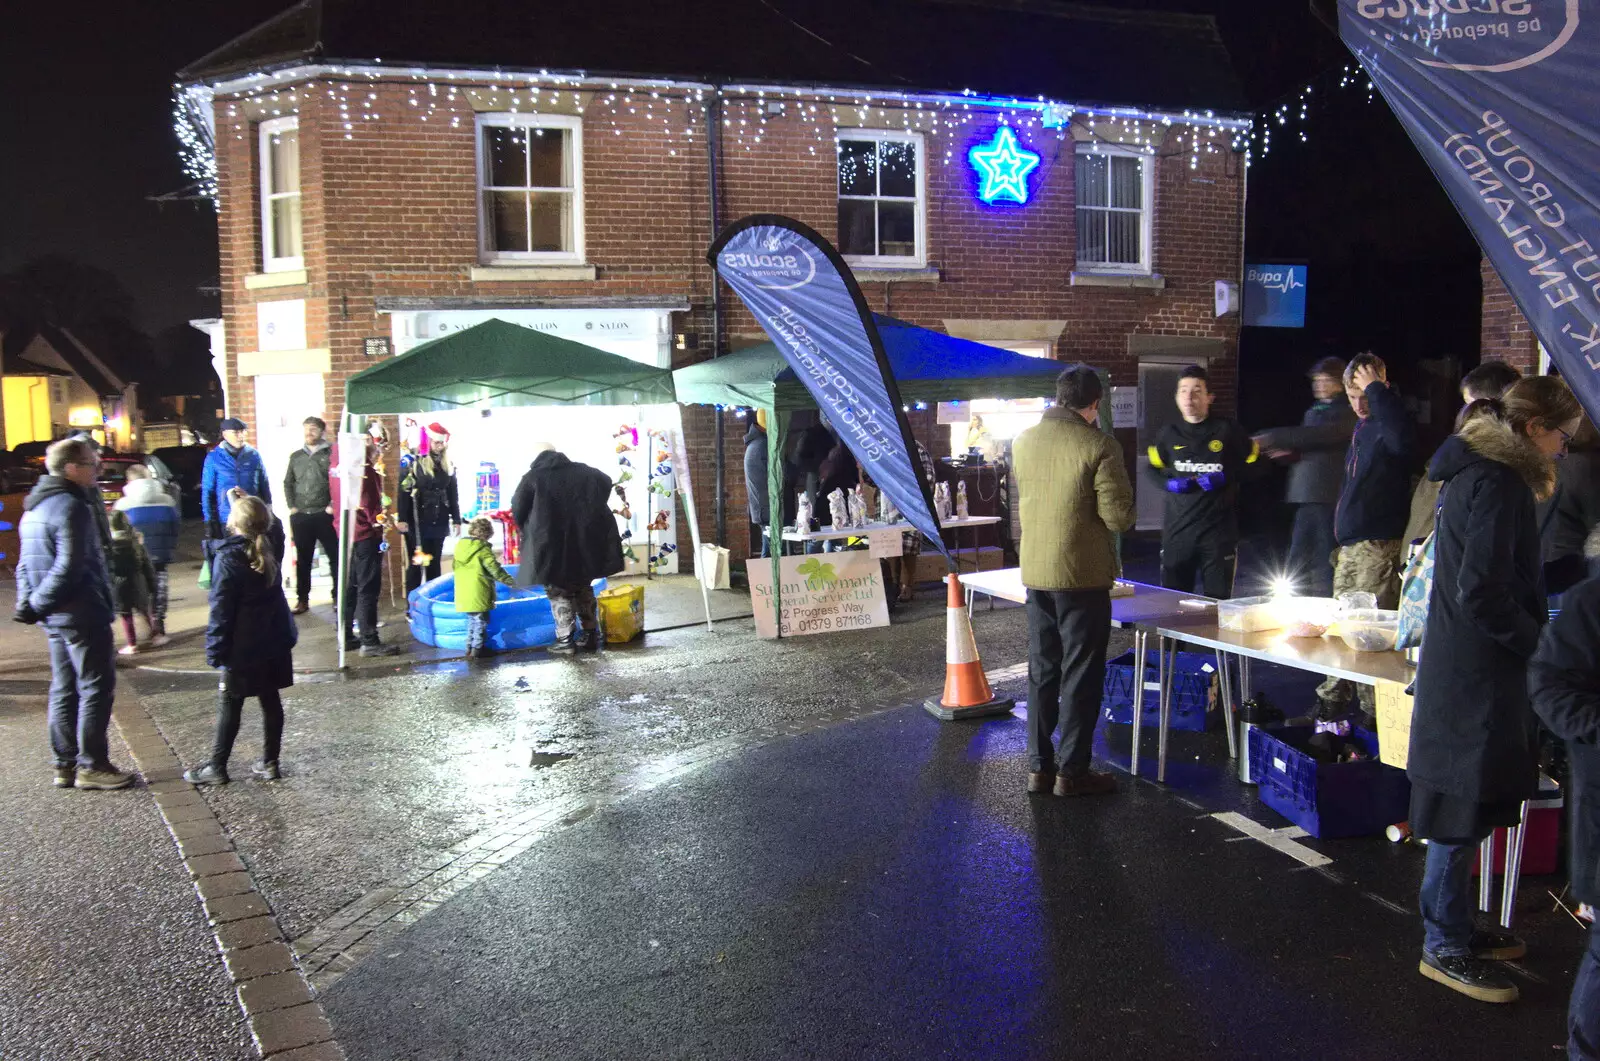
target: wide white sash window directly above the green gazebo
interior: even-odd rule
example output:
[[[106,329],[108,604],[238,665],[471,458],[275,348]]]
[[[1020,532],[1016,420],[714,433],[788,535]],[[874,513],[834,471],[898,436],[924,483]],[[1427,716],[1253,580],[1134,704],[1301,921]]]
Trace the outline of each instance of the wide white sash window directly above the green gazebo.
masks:
[[[562,115],[478,118],[483,261],[584,259],[582,123]]]

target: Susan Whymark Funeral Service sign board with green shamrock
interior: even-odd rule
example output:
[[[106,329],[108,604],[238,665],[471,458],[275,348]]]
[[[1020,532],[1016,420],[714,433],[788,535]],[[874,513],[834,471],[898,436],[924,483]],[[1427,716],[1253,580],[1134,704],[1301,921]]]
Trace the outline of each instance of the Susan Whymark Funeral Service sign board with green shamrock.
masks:
[[[899,531],[893,531],[899,538]],[[782,557],[784,637],[837,634],[890,624],[878,562],[859,549]],[[773,618],[773,562],[747,560],[755,634],[778,637]]]

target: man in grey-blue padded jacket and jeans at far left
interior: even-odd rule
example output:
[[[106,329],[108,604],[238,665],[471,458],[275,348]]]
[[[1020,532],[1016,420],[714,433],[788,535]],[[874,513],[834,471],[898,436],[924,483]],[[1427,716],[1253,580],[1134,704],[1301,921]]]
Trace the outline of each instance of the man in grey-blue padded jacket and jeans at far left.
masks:
[[[64,438],[22,502],[16,565],[18,623],[40,623],[50,639],[50,744],[58,789],[122,789],[133,775],[110,763],[106,727],[117,691],[110,575],[101,547],[99,456]]]

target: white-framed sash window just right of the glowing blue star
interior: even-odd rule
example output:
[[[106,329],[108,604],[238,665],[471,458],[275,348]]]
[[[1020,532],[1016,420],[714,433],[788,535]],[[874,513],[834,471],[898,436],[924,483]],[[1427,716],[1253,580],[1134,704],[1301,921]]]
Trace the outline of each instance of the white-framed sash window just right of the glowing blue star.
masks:
[[[1150,272],[1150,157],[1078,150],[1078,269]]]

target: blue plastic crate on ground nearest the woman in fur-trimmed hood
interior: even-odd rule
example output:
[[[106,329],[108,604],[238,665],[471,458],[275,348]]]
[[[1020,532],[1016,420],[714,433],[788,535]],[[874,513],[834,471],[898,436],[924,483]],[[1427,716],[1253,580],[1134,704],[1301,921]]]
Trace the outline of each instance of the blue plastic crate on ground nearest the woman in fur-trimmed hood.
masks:
[[[1373,759],[1322,763],[1301,751],[1315,727],[1250,730],[1250,776],[1261,802],[1320,840],[1371,837],[1411,810],[1403,770],[1378,762],[1378,735],[1354,728],[1347,738]]]

